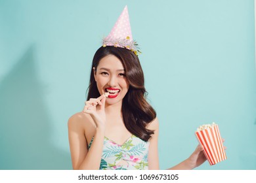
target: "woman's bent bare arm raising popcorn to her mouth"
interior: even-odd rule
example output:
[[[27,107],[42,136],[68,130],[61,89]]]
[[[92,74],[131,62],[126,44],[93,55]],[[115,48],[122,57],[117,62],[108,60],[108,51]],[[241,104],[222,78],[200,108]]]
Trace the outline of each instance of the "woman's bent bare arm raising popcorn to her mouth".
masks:
[[[83,112],[79,114],[87,116],[86,118],[72,116],[68,120],[68,138],[73,169],[98,170],[100,167],[105,131],[104,103],[106,100],[104,97],[100,97],[98,98],[100,101],[87,101]],[[94,107],[89,107],[92,103],[99,105],[96,104]],[[85,119],[89,120],[88,114],[91,115],[96,125],[93,143],[89,150],[87,147],[85,129],[83,127],[83,123],[86,123]]]

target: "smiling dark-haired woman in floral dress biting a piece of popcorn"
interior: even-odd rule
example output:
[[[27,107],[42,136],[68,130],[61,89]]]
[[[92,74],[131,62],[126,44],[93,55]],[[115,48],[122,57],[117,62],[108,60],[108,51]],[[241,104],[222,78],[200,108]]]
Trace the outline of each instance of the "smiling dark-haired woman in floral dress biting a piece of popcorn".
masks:
[[[68,130],[74,169],[159,169],[158,118],[146,101],[134,52],[115,46],[96,51],[85,107],[70,118]],[[198,146],[171,169],[194,169],[205,160]]]

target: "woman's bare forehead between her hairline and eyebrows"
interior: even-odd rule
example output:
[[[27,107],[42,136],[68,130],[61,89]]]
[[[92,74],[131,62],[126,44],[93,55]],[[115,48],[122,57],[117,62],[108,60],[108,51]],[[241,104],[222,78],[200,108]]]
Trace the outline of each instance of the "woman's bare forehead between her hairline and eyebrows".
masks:
[[[105,67],[109,69],[124,69],[121,61],[114,55],[108,55],[102,59],[98,63],[98,68]]]

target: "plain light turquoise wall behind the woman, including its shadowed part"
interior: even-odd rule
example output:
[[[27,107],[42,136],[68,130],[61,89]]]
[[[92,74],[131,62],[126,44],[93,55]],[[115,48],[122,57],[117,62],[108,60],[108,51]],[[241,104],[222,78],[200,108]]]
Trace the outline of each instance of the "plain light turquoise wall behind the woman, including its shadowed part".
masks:
[[[125,5],[160,120],[160,168],[216,122],[228,159],[198,169],[256,169],[253,0],[0,0],[0,169],[72,169],[67,121]]]

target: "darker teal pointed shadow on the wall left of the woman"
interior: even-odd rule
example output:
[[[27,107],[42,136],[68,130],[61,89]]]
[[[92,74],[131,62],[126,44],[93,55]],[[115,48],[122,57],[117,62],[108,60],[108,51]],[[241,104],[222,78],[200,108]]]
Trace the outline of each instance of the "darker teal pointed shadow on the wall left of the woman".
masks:
[[[0,83],[0,169],[72,169],[51,143],[51,118],[31,46]]]

